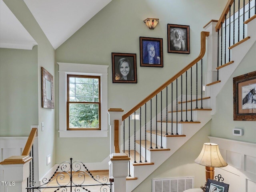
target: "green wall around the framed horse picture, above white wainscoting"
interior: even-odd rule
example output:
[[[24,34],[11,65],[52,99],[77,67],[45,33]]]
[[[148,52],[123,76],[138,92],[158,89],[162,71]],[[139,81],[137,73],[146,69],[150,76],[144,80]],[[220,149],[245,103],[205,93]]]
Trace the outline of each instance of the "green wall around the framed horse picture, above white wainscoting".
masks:
[[[217,96],[217,112],[212,116],[211,135],[216,137],[256,142],[255,121],[233,120],[233,78],[256,70],[256,43],[248,51],[232,76]],[[221,72],[221,71],[220,71]],[[243,136],[233,136],[232,129],[244,129]]]

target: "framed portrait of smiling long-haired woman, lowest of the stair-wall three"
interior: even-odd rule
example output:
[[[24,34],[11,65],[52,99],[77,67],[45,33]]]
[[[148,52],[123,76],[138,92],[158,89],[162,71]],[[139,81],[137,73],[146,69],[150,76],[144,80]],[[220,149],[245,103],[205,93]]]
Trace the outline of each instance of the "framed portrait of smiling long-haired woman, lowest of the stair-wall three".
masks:
[[[112,53],[113,83],[137,83],[136,54]]]

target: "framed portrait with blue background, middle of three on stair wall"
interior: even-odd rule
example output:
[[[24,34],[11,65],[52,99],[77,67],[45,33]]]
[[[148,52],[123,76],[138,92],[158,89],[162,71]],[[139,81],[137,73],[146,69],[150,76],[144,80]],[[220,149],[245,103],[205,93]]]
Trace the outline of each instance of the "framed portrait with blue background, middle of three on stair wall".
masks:
[[[162,38],[140,37],[140,66],[164,66]]]

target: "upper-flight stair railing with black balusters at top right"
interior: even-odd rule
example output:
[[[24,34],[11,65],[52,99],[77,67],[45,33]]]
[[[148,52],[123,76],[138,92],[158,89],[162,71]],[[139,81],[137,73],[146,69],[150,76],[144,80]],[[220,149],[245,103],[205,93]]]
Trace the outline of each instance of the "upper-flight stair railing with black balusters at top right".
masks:
[[[219,69],[224,64],[230,64],[231,48],[247,36],[247,26],[244,24],[256,14],[256,0],[229,0],[216,26],[218,32],[218,64]],[[217,80],[218,76],[217,76]]]

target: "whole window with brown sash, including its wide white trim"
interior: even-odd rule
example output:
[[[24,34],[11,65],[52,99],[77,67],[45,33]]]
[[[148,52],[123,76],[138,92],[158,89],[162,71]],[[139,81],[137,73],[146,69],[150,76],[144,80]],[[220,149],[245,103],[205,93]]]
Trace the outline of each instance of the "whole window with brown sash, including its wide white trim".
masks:
[[[59,136],[107,137],[108,66],[59,62],[58,65]],[[93,109],[90,115],[78,114],[89,108]]]

